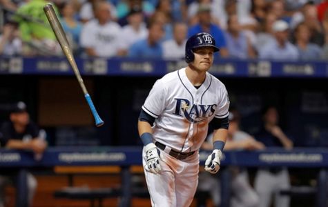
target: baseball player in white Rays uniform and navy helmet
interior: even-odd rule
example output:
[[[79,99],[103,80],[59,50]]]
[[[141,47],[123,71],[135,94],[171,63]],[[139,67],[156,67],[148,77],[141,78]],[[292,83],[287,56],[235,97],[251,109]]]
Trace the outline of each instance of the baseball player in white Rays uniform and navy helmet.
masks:
[[[224,84],[207,72],[218,52],[211,34],[186,41],[186,68],[155,82],[139,115],[144,173],[152,206],[190,206],[198,184],[198,150],[213,132],[205,170],[220,169],[228,133],[229,97]]]

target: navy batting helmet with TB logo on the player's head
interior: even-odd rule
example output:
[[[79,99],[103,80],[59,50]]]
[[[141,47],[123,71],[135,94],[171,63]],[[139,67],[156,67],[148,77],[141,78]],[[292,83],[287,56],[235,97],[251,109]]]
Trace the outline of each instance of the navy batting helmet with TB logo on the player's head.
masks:
[[[184,59],[187,63],[191,63],[195,58],[195,55],[193,55],[193,50],[201,47],[212,47],[214,52],[219,51],[219,48],[215,46],[215,39],[211,34],[206,32],[193,34],[193,36],[189,37],[186,41],[186,54]]]

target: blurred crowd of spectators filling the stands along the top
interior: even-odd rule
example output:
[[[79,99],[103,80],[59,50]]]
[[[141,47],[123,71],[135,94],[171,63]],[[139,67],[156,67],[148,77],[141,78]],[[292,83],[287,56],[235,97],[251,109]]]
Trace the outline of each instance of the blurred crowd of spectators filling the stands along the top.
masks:
[[[0,55],[62,55],[46,3],[79,57],[181,59],[209,32],[221,58],[328,59],[328,0],[0,0]]]

